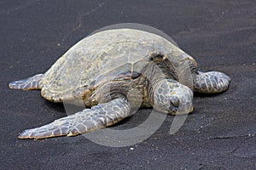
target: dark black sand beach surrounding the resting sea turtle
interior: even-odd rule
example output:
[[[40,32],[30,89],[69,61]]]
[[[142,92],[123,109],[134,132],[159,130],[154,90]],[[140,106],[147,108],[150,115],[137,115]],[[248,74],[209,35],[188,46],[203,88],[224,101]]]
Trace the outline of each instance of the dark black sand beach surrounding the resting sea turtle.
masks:
[[[256,169],[256,3],[235,1],[2,1],[0,169]],[[21,140],[24,129],[66,116],[39,91],[8,82],[46,71],[75,42],[103,26],[137,22],[171,36],[201,70],[232,82],[224,94],[195,95],[195,111],[174,135],[167,116],[149,139],[124,148],[82,135]],[[134,127],[151,110],[119,126]],[[133,150],[131,149],[133,148]]]

